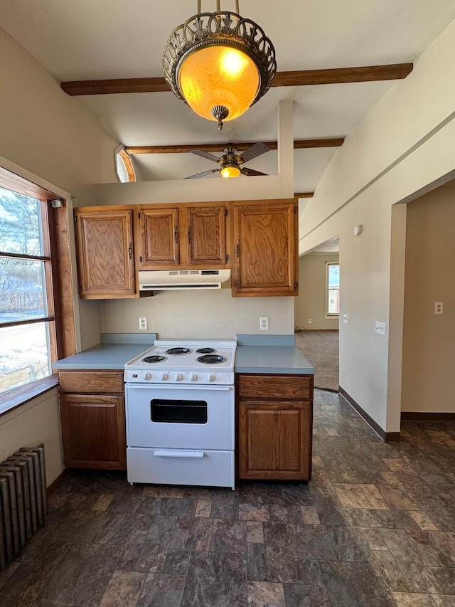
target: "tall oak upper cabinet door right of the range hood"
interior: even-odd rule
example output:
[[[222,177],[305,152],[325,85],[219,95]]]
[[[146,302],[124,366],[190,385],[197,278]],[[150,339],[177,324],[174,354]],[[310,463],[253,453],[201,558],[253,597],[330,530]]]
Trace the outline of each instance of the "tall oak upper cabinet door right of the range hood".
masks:
[[[297,295],[294,201],[233,204],[232,295]]]

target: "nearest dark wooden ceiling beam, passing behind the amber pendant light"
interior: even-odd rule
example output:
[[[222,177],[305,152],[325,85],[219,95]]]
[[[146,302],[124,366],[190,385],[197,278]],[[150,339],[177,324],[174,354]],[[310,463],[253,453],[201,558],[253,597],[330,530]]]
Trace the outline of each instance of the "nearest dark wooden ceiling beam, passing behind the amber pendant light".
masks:
[[[401,80],[412,71],[412,63],[370,65],[361,68],[331,68],[277,72],[272,86],[311,86],[375,80]],[[116,78],[112,80],[73,80],[60,84],[68,95],[111,95],[114,93],[164,93],[169,88],[164,78]]]

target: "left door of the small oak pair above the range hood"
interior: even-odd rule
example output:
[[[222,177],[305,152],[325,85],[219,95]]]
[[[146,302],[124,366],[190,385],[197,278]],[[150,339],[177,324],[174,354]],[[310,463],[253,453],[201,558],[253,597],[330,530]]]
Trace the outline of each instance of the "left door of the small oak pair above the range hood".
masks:
[[[139,268],[164,270],[180,264],[178,209],[154,205],[139,209]]]

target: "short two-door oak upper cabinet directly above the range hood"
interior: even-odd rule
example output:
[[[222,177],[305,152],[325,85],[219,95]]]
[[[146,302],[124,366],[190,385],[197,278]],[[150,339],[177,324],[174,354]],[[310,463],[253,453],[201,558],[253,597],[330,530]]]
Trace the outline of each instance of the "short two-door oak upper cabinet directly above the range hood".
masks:
[[[227,216],[226,204],[139,207],[139,269],[228,267]]]

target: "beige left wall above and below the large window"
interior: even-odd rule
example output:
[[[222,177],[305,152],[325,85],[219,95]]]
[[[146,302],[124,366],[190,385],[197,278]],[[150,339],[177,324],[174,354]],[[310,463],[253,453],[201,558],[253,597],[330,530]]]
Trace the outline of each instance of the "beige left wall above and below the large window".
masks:
[[[63,93],[3,30],[0,57],[0,165],[63,197],[70,196],[76,185],[116,179],[117,142],[102,132],[97,117]],[[99,303],[90,303],[85,307],[90,322],[85,322],[85,310],[77,309],[76,314],[81,312],[87,334],[96,326],[99,336],[100,314],[92,314]],[[41,442],[50,484],[63,470],[57,389],[0,417],[0,460]]]

